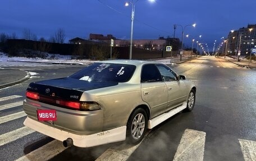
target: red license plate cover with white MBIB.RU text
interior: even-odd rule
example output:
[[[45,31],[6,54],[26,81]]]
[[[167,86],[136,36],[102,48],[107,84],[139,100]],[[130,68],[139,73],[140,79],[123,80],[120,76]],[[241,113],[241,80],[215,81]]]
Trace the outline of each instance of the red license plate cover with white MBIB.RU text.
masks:
[[[57,114],[54,109],[38,109],[36,112],[38,121],[57,121]]]

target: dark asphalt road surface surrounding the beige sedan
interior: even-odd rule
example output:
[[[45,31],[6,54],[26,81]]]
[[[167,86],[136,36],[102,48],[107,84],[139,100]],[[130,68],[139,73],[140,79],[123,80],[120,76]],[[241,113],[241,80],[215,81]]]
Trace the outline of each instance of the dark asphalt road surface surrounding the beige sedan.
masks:
[[[30,67],[30,72],[38,74],[0,90],[0,160],[248,160],[246,153],[256,159],[255,70],[215,57],[172,66],[197,85],[193,112],[178,113],[148,131],[138,146],[117,142],[65,149],[61,142],[38,132],[16,132],[24,127],[25,116],[12,120],[9,117],[22,112],[19,102],[24,99],[29,82],[68,76],[82,66],[42,68]],[[6,96],[12,98],[3,100]],[[14,103],[14,107],[6,108]],[[7,121],[2,122],[6,117]],[[13,136],[17,138],[11,140]]]

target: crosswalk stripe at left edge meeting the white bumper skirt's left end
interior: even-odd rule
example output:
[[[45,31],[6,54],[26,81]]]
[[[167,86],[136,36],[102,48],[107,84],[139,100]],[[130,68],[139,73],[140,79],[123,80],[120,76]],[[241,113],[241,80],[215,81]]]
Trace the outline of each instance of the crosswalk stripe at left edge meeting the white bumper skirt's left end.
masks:
[[[35,132],[34,130],[24,126],[21,128],[18,128],[17,130],[13,130],[10,132],[7,132],[6,134],[0,135],[0,146],[7,144],[9,142],[15,141],[17,139],[20,139],[21,137],[25,135],[29,135],[32,132]]]

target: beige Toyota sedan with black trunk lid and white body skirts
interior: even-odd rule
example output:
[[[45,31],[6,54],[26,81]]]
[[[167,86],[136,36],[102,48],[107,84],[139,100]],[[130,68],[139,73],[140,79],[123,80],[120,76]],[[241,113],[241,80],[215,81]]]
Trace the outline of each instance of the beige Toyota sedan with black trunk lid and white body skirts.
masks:
[[[191,111],[195,93],[192,82],[163,63],[96,62],[68,77],[30,83],[24,125],[64,146],[137,144],[148,128]]]

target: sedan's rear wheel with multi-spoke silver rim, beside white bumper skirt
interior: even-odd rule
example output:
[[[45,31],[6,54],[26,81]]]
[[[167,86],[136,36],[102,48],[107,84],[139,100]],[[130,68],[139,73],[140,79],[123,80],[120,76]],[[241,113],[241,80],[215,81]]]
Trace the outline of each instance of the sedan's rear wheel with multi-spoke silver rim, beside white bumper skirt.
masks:
[[[143,108],[135,109],[127,123],[127,143],[138,144],[148,129],[148,116]]]

